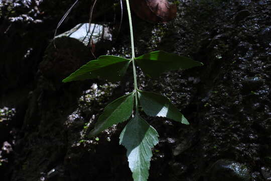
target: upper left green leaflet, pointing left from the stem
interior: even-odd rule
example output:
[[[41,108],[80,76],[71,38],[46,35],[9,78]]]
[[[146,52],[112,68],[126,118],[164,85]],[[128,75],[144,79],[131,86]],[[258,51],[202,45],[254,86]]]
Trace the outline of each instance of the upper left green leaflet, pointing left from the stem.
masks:
[[[90,78],[103,78],[109,81],[118,81],[124,75],[130,63],[130,59],[103,55],[97,60],[91,60],[70,74],[63,82],[73,80],[85,80]]]

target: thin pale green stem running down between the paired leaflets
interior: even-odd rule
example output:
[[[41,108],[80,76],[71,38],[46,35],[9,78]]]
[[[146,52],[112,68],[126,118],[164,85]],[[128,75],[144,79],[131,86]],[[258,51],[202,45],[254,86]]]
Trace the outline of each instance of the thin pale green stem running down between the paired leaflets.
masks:
[[[133,44],[133,31],[132,31],[132,21],[131,21],[131,11],[129,0],[126,0],[127,4],[127,11],[128,11],[128,18],[129,18],[129,26],[130,26],[130,37],[131,37],[131,49],[132,49],[132,70],[133,70],[133,84],[134,84],[134,92],[135,92],[135,111],[136,114],[139,113],[139,106],[138,106],[138,82],[137,82],[137,71],[135,70],[135,56],[134,56],[134,44]]]

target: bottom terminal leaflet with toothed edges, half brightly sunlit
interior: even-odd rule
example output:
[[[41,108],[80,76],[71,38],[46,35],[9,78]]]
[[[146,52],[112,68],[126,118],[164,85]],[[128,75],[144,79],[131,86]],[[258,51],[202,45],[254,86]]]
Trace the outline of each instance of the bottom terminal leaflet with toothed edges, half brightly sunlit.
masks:
[[[139,115],[135,115],[119,136],[119,144],[127,149],[129,168],[134,181],[147,181],[152,148],[159,142],[158,133]]]

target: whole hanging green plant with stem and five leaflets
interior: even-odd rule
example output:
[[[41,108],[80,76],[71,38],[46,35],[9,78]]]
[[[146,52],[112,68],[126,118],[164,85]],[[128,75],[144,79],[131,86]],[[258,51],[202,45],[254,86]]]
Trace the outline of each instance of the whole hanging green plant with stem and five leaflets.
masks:
[[[144,181],[149,176],[152,148],[159,140],[157,131],[140,116],[140,106],[148,116],[165,117],[183,124],[189,124],[189,122],[168,98],[155,93],[145,92],[138,88],[135,63],[150,77],[158,77],[165,71],[201,66],[202,63],[164,51],[155,51],[135,57],[128,0],[126,0],[126,4],[130,26],[132,57],[126,59],[111,55],[100,56],[97,60],[89,61],[83,65],[65,78],[63,82],[97,77],[108,81],[118,81],[125,74],[129,64],[132,64],[133,91],[116,99],[104,108],[103,114],[98,118],[89,136],[94,137],[112,125],[131,118],[119,136],[119,143],[127,149],[129,168],[132,171],[133,180]],[[95,139],[98,141],[98,137]]]

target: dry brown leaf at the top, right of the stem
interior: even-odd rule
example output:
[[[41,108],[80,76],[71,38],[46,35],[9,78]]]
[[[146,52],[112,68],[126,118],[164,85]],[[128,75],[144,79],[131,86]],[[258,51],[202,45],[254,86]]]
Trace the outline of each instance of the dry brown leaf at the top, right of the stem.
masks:
[[[159,23],[173,20],[177,6],[167,0],[132,0],[132,10],[143,20]]]

